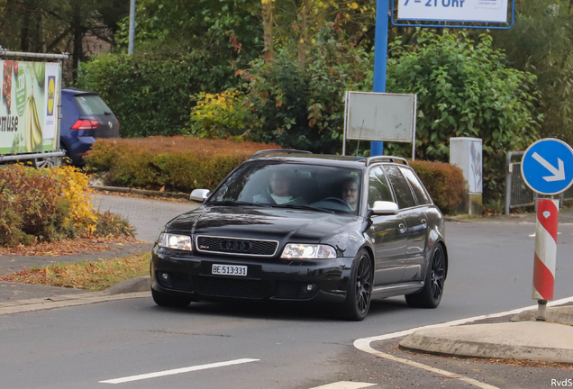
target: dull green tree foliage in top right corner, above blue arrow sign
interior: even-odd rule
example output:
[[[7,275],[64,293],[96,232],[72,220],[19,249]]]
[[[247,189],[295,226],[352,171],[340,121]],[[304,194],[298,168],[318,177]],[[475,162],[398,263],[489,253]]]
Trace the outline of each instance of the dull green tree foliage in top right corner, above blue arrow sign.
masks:
[[[536,111],[545,118],[542,137],[573,143],[573,11],[571,2],[520,1],[514,27],[492,32],[494,47],[505,50],[505,63],[531,72],[539,91]]]

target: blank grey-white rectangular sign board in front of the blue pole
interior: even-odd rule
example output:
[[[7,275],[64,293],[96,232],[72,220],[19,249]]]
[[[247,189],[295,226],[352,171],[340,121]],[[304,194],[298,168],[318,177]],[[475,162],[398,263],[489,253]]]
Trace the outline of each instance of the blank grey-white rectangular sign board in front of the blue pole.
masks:
[[[346,137],[350,140],[412,142],[416,95],[348,92]]]

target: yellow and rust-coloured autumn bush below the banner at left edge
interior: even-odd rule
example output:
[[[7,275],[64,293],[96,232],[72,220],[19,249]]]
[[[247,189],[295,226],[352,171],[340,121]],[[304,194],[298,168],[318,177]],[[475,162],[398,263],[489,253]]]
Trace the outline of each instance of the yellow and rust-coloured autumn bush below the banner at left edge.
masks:
[[[94,212],[86,184],[86,175],[73,167],[10,165],[0,169],[0,246],[103,235],[105,231],[132,236],[121,219],[106,214],[100,218]]]

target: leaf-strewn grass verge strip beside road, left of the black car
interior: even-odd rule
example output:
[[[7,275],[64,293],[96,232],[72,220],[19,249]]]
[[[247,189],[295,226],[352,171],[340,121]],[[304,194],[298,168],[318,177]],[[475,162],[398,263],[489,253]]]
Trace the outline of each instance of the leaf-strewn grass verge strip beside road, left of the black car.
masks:
[[[150,253],[132,257],[29,267],[0,281],[99,291],[134,276],[148,276]]]

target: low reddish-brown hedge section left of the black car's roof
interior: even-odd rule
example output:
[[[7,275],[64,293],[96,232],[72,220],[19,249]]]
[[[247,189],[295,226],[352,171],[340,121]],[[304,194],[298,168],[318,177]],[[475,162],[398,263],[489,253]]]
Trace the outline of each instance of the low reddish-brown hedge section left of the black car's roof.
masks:
[[[192,137],[96,140],[86,156],[91,171],[105,171],[108,185],[191,192],[213,190],[252,154],[277,145]]]

